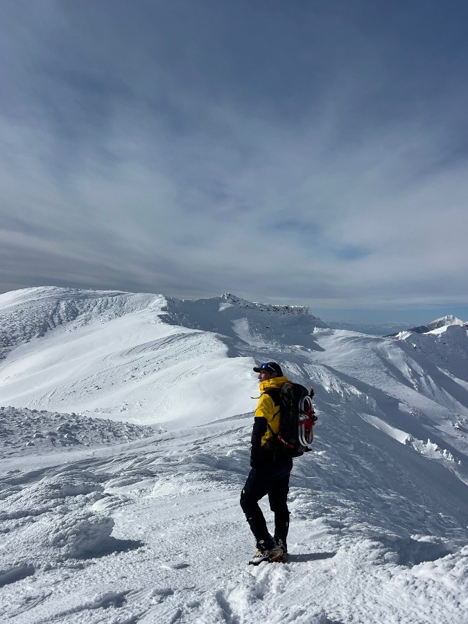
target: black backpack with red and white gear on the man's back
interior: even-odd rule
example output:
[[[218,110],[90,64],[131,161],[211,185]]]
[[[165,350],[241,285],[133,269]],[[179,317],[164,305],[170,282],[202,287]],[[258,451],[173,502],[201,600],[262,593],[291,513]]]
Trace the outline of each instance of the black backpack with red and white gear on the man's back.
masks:
[[[267,394],[279,394],[279,432],[275,436],[277,447],[292,457],[300,457],[309,449],[313,440],[313,426],[317,420],[313,411],[311,392],[300,383],[286,381],[281,390],[267,390]]]

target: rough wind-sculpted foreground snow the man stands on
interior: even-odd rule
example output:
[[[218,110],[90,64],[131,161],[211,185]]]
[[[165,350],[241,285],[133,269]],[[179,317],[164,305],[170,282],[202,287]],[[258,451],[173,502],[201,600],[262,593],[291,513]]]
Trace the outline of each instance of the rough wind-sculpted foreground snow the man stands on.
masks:
[[[352,410],[322,414],[295,462],[290,562],[246,566],[251,419],[17,458],[0,496],[3,621],[466,621],[467,486]]]

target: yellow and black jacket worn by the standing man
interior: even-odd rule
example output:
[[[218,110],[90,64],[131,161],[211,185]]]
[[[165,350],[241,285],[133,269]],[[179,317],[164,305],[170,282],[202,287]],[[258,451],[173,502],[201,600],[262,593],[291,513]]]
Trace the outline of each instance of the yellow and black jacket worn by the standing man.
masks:
[[[258,467],[263,462],[274,462],[280,459],[276,444],[279,431],[279,391],[288,379],[272,377],[260,383],[259,404],[255,410],[252,429],[252,449],[250,465]]]

